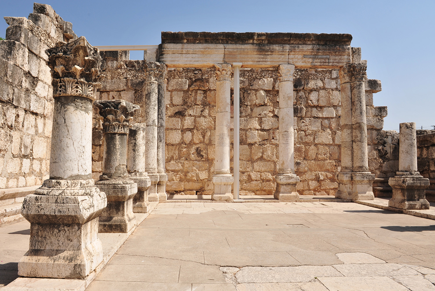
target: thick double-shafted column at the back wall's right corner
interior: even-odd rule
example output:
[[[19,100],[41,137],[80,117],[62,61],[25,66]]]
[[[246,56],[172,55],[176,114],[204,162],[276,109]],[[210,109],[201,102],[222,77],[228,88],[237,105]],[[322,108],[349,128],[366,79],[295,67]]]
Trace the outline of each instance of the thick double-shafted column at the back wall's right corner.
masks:
[[[339,72],[341,93],[341,171],[335,197],[373,200],[375,174],[368,171],[365,114],[366,64],[347,64]]]

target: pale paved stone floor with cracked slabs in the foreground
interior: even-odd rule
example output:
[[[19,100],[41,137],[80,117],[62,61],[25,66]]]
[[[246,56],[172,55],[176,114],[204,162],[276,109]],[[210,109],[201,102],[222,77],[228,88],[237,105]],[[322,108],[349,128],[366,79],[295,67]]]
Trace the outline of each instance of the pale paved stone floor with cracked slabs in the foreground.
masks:
[[[355,203],[164,203],[86,290],[435,290],[434,224]],[[0,227],[0,278],[28,227]]]

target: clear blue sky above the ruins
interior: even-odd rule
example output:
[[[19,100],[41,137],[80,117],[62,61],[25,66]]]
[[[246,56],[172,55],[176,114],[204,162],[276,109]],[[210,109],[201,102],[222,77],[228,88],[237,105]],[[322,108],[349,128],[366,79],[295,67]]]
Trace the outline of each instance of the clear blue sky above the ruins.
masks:
[[[385,130],[435,125],[435,1],[53,1],[92,45],[159,44],[161,31],[351,33],[370,79],[382,82]],[[33,1],[1,0],[1,16],[27,17]],[[0,37],[7,24],[1,22]],[[140,53],[131,58],[140,59]]]

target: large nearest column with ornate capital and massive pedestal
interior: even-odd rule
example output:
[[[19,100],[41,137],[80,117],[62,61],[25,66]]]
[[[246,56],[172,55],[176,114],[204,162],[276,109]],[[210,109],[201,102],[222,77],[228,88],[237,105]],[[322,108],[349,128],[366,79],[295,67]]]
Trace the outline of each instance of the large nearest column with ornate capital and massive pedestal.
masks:
[[[18,274],[84,278],[103,261],[98,216],[107,200],[91,177],[92,101],[101,86],[101,58],[84,37],[46,53],[54,87],[50,179],[24,198],[30,247]]]

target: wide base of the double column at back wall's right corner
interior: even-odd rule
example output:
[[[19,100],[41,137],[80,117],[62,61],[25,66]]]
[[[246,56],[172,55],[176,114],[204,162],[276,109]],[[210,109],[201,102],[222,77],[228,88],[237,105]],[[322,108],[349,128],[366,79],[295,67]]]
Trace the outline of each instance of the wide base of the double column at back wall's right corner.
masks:
[[[370,172],[338,173],[338,191],[335,198],[346,200],[373,200],[375,174]]]

